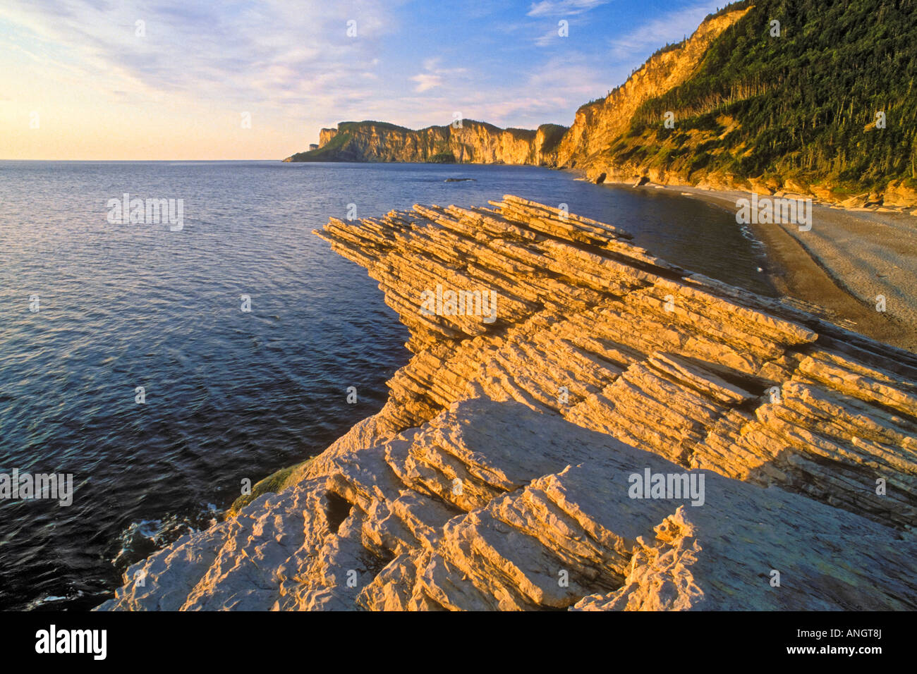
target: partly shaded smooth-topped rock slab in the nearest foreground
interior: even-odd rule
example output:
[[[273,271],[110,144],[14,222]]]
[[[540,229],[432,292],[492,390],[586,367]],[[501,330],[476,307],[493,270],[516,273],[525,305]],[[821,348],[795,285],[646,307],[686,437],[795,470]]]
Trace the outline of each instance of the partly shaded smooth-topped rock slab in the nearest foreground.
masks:
[[[690,473],[702,504],[632,498],[646,470],[684,472],[558,415],[463,401],[160,550],[101,608],[917,608],[911,534],[712,471]]]

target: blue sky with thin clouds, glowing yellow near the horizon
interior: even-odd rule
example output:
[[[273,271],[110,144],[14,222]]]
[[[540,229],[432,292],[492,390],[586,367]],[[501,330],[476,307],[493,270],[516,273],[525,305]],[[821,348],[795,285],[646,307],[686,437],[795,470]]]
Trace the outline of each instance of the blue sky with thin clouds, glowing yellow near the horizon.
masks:
[[[2,0],[0,160],[280,160],[340,121],[457,113],[569,126],[725,4]]]

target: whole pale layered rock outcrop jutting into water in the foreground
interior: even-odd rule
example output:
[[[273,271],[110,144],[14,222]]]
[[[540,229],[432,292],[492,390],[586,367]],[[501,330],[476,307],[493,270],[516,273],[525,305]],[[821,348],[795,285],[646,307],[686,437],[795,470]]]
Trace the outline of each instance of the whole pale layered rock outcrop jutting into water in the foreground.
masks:
[[[917,357],[492,206],[316,232],[410,328],[388,403],[101,609],[917,608]]]

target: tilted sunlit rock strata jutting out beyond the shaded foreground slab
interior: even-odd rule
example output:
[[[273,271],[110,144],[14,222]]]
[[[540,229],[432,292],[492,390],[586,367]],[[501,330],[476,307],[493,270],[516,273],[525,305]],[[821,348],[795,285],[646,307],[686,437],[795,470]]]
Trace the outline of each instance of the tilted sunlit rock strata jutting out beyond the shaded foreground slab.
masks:
[[[494,205],[319,233],[411,329],[414,358],[381,414],[393,427],[468,397],[515,400],[685,468],[914,524],[912,354],[680,270],[613,227],[510,195]],[[423,315],[436,283],[497,293],[497,320]]]

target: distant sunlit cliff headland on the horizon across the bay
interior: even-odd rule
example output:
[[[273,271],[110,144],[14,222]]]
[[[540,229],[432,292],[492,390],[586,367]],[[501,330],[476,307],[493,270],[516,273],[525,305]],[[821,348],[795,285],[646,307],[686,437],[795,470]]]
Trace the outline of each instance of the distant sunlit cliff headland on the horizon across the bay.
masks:
[[[557,145],[566,127],[545,124],[535,131],[498,128],[471,119],[461,127],[413,130],[384,122],[341,122],[323,128],[318,149],[286,161],[417,161],[437,163],[557,163]]]

